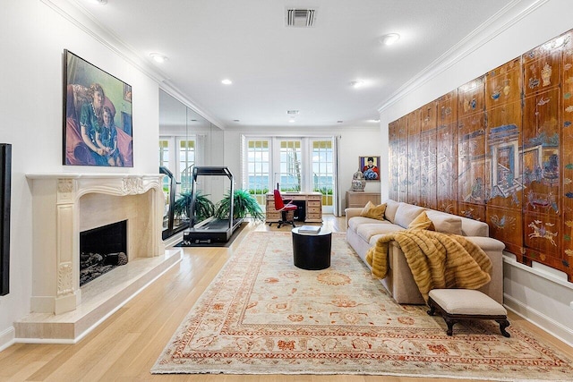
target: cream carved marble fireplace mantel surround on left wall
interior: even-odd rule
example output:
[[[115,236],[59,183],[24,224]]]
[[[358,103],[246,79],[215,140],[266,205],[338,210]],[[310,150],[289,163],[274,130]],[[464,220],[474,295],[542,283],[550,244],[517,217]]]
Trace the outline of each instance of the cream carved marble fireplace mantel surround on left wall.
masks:
[[[127,220],[129,261],[164,254],[163,176],[26,174],[33,214],[32,312],[58,315],[81,304],[81,231]]]

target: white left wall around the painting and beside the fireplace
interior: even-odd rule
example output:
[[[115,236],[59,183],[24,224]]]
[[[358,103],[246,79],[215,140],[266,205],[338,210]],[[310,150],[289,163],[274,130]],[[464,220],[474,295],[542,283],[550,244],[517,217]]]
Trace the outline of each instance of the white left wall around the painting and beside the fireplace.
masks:
[[[10,293],[0,297],[0,350],[30,312],[30,173],[157,174],[158,84],[38,0],[3,1],[0,142],[13,145]],[[133,168],[62,166],[64,48],[133,87]],[[150,155],[153,153],[153,155]]]

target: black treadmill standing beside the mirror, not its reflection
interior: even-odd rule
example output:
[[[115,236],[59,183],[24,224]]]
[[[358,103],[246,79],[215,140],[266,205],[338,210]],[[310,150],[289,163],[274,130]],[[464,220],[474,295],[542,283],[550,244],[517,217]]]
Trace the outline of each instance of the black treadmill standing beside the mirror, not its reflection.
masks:
[[[197,216],[195,216],[195,200],[198,192],[197,178],[200,176],[225,176],[230,182],[229,195],[231,196],[231,208],[227,218],[219,218],[217,216],[210,216],[203,220],[201,223],[196,223]],[[191,242],[194,244],[199,243],[213,243],[213,242],[228,242],[235,229],[241,225],[243,219],[233,219],[234,212],[234,182],[233,174],[229,171],[228,167],[218,166],[194,166],[192,171],[192,188],[191,188],[191,215],[189,228],[183,233],[184,242]]]

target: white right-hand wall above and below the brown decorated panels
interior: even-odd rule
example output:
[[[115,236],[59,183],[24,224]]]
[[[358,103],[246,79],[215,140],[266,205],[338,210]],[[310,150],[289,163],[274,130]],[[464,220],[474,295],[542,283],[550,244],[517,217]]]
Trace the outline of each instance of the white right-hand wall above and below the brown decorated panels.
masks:
[[[403,94],[381,108],[381,147],[388,150],[388,124],[402,115],[472,81],[501,64],[526,53],[543,42],[573,29],[573,2],[549,0],[535,3],[513,21],[483,30],[470,52],[454,52],[458,59],[433,68],[423,81],[404,89]],[[440,69],[444,69],[440,72]],[[388,195],[388,168],[382,173],[382,199]],[[504,262],[505,304],[547,331],[573,344],[573,284],[552,270],[524,267],[509,255]]]

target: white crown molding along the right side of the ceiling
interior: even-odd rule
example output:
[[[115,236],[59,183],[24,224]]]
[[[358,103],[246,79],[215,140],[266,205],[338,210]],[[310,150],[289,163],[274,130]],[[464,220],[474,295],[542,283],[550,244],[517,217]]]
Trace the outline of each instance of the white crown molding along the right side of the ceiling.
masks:
[[[446,53],[440,55],[436,60],[426,66],[422,72],[417,73],[412,79],[406,81],[398,90],[392,93],[389,98],[382,101],[378,106],[378,112],[393,106],[402,98],[406,98],[424,83],[431,81],[442,72],[447,71],[453,65],[458,64],[467,55],[471,55],[480,47],[483,47],[493,38],[498,37],[505,30],[521,21],[530,13],[546,4],[549,0],[535,0],[533,3],[526,5],[523,9],[518,9],[518,5],[523,3],[522,0],[512,0],[504,6],[498,13],[495,13],[487,21],[483,22],[478,28],[472,31],[466,38],[463,38],[455,46],[451,47]]]

